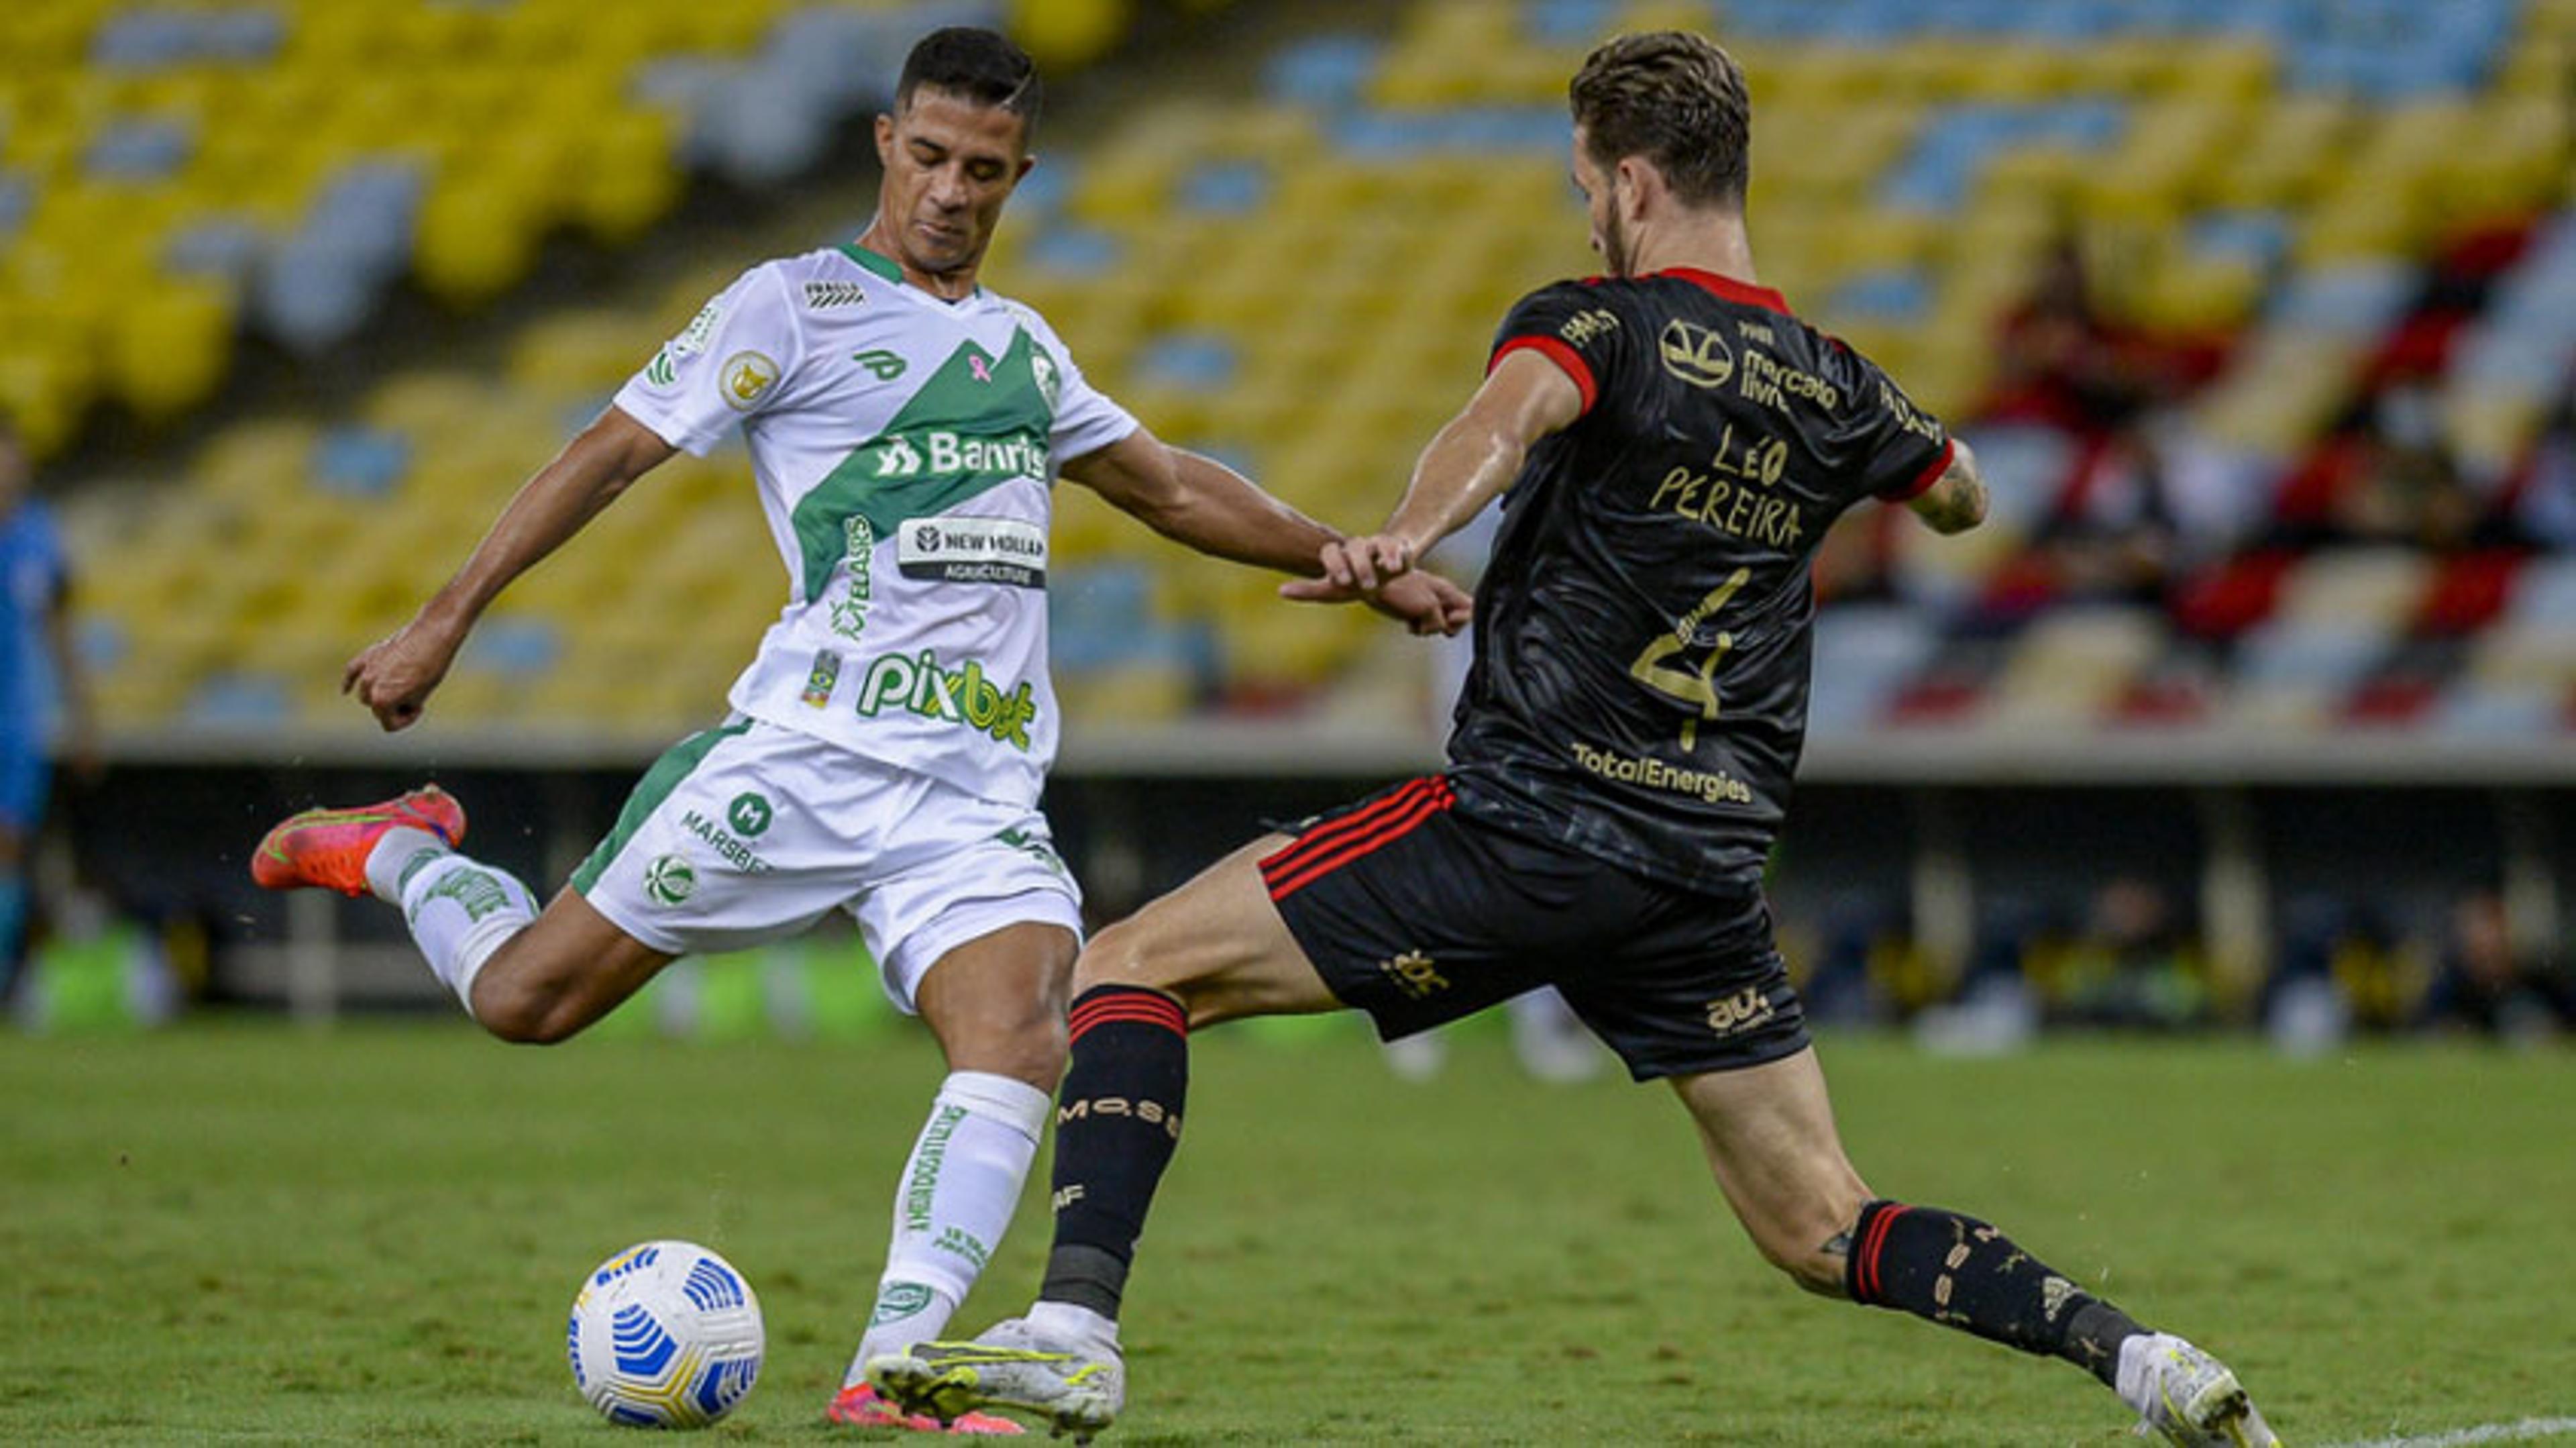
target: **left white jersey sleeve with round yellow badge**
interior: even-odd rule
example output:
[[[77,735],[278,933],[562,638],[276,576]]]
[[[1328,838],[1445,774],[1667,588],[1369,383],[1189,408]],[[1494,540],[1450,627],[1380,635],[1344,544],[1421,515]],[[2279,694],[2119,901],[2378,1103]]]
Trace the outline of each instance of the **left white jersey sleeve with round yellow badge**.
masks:
[[[801,361],[786,281],[778,265],[755,265],[626,379],[616,407],[703,459],[734,423],[773,407]]]

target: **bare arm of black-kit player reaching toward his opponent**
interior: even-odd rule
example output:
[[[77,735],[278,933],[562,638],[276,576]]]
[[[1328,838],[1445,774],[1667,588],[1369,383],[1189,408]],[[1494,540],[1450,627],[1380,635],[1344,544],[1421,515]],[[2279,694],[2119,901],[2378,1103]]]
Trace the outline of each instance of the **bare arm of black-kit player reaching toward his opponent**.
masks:
[[[1365,598],[1406,575],[1520,477],[1520,464],[1548,433],[1574,425],[1584,394],[1556,363],[1507,353],[1476,397],[1432,435],[1386,528],[1324,549],[1324,577],[1280,587],[1306,603]]]

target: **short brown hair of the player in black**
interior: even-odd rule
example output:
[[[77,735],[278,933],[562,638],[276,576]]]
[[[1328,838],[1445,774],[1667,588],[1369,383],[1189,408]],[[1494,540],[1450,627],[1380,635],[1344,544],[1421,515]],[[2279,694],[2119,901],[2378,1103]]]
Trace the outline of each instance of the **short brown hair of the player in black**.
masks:
[[[1703,36],[1618,36],[1566,85],[1592,162],[1646,157],[1685,204],[1744,206],[1752,180],[1754,108],[1744,70]]]

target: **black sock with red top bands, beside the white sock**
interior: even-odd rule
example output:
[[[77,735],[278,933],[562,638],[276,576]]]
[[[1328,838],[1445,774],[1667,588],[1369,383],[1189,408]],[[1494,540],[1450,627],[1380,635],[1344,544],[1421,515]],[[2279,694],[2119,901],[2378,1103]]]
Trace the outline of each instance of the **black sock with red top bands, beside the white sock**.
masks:
[[[1041,1301],[1118,1317],[1128,1262],[1190,1090],[1190,1018],[1170,995],[1095,984],[1074,1000],[1056,1092],[1056,1247]]]

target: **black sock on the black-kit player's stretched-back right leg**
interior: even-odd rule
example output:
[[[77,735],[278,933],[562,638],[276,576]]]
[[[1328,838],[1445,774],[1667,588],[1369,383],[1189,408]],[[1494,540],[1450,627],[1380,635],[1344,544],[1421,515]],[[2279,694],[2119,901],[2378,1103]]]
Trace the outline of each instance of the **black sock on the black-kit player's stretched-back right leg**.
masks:
[[[1857,1304],[1911,1311],[2022,1353],[2066,1358],[2105,1386],[2117,1386],[2120,1342],[2146,1332],[2117,1306],[2014,1247],[2012,1237],[1937,1206],[1862,1206],[1842,1283]]]

